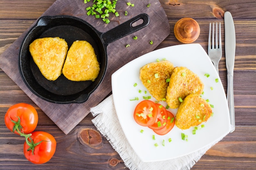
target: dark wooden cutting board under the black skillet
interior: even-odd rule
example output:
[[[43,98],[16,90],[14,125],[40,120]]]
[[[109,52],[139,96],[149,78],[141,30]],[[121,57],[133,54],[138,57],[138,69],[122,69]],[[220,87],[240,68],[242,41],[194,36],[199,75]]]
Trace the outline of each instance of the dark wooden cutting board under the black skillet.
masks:
[[[128,2],[128,1],[127,1]],[[130,2],[130,1],[129,1]],[[106,32],[115,26],[129,20],[139,13],[147,13],[150,24],[145,28],[127,35],[107,47],[108,68],[106,76],[88,101],[82,104],[54,104],[40,99],[34,95],[24,84],[18,70],[18,56],[20,45],[29,29],[25,31],[13,44],[0,56],[0,68],[24,91],[45,114],[65,133],[68,134],[86,115],[90,108],[97,106],[111,91],[111,75],[121,66],[131,60],[153,51],[170,33],[170,26],[166,13],[158,0],[134,1],[135,6],[126,4],[126,0],[119,0],[116,9],[119,17],[110,15],[110,23],[105,24],[101,19],[88,16],[85,8],[92,5],[91,2],[84,4],[83,0],[56,0],[43,15],[72,15],[86,20],[100,32]],[[150,7],[147,5],[150,3]],[[124,15],[125,11],[128,15]],[[137,40],[133,40],[134,36]],[[150,44],[150,40],[153,44]],[[126,44],[130,47],[126,48]],[[129,81],[129,80],[128,80]]]

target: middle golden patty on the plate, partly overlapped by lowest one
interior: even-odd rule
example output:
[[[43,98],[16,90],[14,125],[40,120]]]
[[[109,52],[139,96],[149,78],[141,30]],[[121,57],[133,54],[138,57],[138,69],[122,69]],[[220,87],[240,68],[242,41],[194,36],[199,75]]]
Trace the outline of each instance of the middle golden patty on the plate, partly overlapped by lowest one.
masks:
[[[186,67],[175,67],[167,88],[166,102],[170,108],[178,108],[179,97],[184,99],[190,94],[200,95],[203,89],[204,84],[198,75]]]

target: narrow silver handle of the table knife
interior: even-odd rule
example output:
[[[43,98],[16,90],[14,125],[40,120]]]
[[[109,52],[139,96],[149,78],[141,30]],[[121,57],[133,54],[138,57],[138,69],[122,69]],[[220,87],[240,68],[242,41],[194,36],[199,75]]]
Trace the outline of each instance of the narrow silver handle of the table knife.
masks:
[[[235,130],[235,108],[234,108],[234,91],[233,91],[233,74],[227,73],[227,103],[229,105],[230,115],[230,133]]]

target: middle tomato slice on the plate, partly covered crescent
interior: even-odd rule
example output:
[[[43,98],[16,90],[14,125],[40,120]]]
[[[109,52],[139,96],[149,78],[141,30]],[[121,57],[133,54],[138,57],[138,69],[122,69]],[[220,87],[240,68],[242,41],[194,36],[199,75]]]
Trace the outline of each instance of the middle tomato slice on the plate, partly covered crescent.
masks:
[[[166,108],[161,104],[155,104],[158,108],[157,113],[157,119],[155,119],[155,123],[148,126],[150,129],[153,130],[159,130],[164,128],[164,126],[167,124],[167,110]]]

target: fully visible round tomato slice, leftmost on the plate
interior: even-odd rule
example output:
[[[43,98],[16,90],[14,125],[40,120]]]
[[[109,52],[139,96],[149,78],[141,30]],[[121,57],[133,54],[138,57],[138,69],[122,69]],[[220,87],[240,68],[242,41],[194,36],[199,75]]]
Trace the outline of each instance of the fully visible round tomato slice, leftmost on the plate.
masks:
[[[133,117],[137,124],[141,126],[149,126],[155,123],[157,119],[158,108],[154,102],[143,100],[137,104]]]

